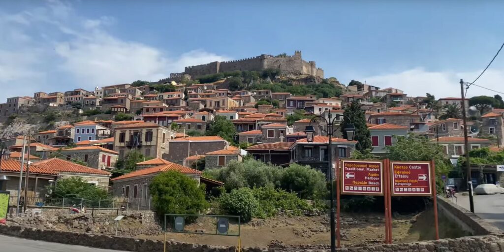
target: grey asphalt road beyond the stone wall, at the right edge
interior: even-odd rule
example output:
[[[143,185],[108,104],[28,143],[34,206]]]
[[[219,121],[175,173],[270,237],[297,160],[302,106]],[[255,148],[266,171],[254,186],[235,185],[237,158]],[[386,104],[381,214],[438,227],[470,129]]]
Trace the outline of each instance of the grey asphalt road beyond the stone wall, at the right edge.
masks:
[[[457,194],[459,206],[469,210],[469,196]],[[474,212],[504,231],[504,194],[475,195]]]

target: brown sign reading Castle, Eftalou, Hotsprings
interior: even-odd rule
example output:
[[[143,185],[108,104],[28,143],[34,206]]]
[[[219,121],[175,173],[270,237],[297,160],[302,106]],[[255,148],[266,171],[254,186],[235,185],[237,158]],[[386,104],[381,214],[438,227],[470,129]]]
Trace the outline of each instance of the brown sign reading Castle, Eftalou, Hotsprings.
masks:
[[[393,196],[432,194],[429,162],[391,161],[391,175]]]

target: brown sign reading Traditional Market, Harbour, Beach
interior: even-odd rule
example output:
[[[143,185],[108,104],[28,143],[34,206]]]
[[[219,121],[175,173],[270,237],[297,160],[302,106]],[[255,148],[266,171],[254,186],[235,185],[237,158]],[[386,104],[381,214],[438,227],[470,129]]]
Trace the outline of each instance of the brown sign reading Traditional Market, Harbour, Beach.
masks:
[[[342,161],[341,194],[383,195],[382,161]]]

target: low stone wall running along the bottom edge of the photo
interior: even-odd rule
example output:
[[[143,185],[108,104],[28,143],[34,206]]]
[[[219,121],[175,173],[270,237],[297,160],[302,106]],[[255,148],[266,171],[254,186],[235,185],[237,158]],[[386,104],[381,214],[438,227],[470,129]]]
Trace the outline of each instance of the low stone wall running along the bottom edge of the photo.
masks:
[[[42,230],[25,228],[21,226],[0,225],[0,234],[17,236],[27,239],[44,240],[72,245],[84,245],[105,249],[118,249],[138,252],[161,252],[163,241],[135,239],[128,237],[82,234],[56,230]],[[211,246],[194,243],[167,241],[166,249],[170,252],[234,252],[235,247]],[[303,248],[258,248],[243,247],[243,252],[328,252],[328,249]],[[415,243],[402,243],[391,245],[374,245],[367,247],[339,248],[341,252],[371,252],[371,251],[397,251],[397,252],[426,252],[426,251],[480,251],[497,252],[504,251],[504,240],[495,235],[471,236],[457,239],[442,239],[437,241],[422,241]]]

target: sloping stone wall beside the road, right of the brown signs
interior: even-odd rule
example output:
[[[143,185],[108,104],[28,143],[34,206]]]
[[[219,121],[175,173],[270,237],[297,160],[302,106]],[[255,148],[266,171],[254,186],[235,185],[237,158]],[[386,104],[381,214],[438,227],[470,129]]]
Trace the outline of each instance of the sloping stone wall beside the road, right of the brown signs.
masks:
[[[437,197],[437,209],[473,235],[502,234],[502,231],[476,214],[453,204],[443,197]]]

